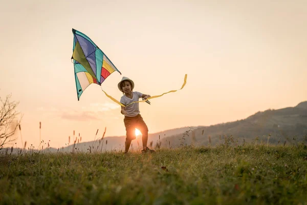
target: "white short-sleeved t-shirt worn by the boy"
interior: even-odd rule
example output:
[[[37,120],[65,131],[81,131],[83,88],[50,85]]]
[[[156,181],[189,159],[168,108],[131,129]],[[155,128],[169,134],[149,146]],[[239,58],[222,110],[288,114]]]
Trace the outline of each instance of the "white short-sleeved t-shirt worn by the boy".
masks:
[[[139,99],[142,97],[143,93],[140,92],[132,92],[133,96],[132,98],[128,98],[126,95],[123,95],[120,98],[120,102],[123,105],[129,105],[130,103],[134,101],[139,101]],[[127,117],[134,117],[140,114],[140,109],[139,109],[139,103],[133,103],[127,107],[124,107],[124,110],[127,112],[125,116]]]

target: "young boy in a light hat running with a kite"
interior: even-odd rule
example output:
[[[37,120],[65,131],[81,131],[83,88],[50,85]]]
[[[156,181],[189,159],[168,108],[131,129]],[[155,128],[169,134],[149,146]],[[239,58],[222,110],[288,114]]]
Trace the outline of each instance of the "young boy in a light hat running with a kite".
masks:
[[[118,89],[123,92],[123,96],[120,98],[120,103],[123,105],[129,105],[134,101],[139,101],[139,98],[147,99],[150,95],[146,95],[140,92],[133,92],[134,81],[123,77],[118,83]],[[127,107],[121,107],[121,114],[125,115],[124,124],[126,127],[126,141],[125,141],[125,153],[128,153],[131,140],[136,139],[136,128],[142,133],[142,152],[155,152],[147,147],[148,140],[148,128],[140,115],[139,103],[133,103]]]

